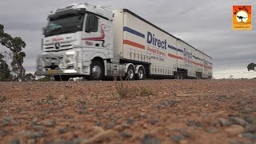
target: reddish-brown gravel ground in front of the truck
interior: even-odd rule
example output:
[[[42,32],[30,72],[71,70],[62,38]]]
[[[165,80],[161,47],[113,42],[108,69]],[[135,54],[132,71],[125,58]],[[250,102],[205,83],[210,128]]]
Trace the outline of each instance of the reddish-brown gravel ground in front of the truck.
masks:
[[[0,82],[0,143],[256,143],[256,80]]]

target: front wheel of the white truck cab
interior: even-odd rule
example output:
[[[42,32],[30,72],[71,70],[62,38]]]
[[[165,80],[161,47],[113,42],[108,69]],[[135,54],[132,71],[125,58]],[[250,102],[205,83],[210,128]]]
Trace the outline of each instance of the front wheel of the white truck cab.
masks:
[[[90,65],[90,80],[102,80],[104,68],[102,62],[93,61]]]

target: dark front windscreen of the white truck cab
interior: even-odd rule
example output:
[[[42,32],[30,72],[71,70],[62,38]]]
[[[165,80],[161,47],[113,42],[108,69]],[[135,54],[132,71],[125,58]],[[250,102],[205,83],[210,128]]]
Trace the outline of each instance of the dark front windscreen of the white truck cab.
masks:
[[[44,28],[44,35],[50,37],[82,31],[84,18],[84,14],[65,14],[57,18],[50,18],[48,25]]]

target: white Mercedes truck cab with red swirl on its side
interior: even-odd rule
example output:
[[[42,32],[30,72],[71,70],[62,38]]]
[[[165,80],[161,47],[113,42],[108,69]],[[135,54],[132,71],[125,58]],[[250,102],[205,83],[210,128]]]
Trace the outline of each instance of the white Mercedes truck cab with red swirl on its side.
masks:
[[[57,81],[106,75],[106,62],[113,57],[113,14],[102,6],[72,4],[54,10],[43,28],[38,75],[53,75]]]

